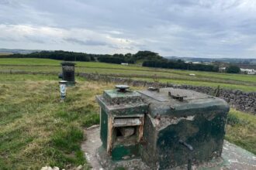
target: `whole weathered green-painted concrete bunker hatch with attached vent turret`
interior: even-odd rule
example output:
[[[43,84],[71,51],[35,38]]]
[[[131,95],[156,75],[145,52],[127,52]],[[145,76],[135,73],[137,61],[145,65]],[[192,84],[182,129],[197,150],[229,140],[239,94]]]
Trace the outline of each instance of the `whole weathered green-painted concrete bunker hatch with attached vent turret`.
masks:
[[[99,155],[112,162],[140,158],[150,169],[209,162],[223,148],[228,104],[192,90],[116,86],[96,97]]]

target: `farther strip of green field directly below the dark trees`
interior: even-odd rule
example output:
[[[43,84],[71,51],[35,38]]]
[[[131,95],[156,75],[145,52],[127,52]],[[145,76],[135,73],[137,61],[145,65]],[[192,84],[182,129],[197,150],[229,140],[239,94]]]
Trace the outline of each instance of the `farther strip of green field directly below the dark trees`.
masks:
[[[10,59],[1,58],[1,65],[29,65],[29,66],[60,66],[61,61],[55,59]],[[138,65],[130,64],[129,66],[123,66],[120,64],[112,63],[99,63],[99,62],[75,62],[78,67],[95,68],[96,69],[109,69],[109,70],[135,70],[135,71],[147,71],[147,72],[161,72],[161,73],[173,73],[178,75],[189,76],[189,73],[195,73],[195,77],[208,77],[208,78],[219,78],[225,80],[238,80],[245,82],[256,83],[256,76],[243,75],[243,74],[230,74],[230,73],[211,73],[202,71],[189,71],[189,70],[170,70],[170,69],[154,69],[149,67],[143,67]]]

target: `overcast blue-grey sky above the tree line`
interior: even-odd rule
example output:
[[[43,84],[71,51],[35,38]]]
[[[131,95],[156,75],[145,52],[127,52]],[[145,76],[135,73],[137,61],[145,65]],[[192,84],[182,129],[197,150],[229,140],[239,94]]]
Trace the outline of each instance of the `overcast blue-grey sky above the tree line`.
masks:
[[[256,1],[0,0],[0,48],[256,58]]]

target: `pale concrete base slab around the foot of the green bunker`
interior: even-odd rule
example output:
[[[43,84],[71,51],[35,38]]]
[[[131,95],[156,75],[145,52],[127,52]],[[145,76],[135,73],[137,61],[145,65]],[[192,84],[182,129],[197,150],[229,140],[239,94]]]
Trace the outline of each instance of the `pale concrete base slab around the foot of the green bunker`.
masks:
[[[113,162],[106,151],[101,148],[102,142],[99,138],[99,125],[92,126],[85,130],[86,141],[81,145],[85,152],[85,157],[91,164],[92,169],[150,169],[141,159],[131,159],[121,162]],[[173,169],[187,169],[186,165]],[[237,169],[237,170],[254,170],[256,169],[256,155],[237,145],[224,141],[222,158],[213,159],[199,165],[192,165],[192,169]]]

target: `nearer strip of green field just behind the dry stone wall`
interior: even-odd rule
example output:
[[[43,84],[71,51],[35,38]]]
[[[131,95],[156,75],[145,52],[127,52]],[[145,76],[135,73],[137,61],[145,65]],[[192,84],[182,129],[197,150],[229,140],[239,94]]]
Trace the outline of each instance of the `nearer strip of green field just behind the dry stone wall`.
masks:
[[[29,71],[29,72],[53,72],[61,73],[61,66],[1,66],[0,70],[12,73],[15,71]],[[243,86],[255,87],[256,83],[250,81],[240,81],[240,80],[228,80],[220,79],[214,77],[202,77],[202,76],[189,76],[180,75],[177,73],[162,73],[162,72],[152,72],[144,70],[112,70],[112,69],[102,69],[102,68],[90,68],[90,67],[76,67],[76,72],[80,73],[104,73],[113,76],[129,76],[129,77],[140,77],[148,78],[157,76],[162,80],[184,80],[187,83],[192,84],[192,82],[213,82],[213,83],[226,83],[226,84],[237,84]],[[255,88],[256,90],[256,88]]]

